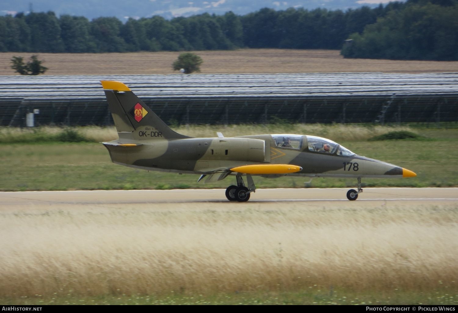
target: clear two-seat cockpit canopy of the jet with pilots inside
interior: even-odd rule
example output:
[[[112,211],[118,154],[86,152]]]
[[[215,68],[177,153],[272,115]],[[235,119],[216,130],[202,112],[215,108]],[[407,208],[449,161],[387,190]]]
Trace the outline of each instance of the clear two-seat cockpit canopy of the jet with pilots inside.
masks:
[[[309,135],[273,134],[275,145],[281,148],[294,150],[308,150],[311,152],[335,154],[338,156],[349,157],[354,153],[340,146],[333,140]]]

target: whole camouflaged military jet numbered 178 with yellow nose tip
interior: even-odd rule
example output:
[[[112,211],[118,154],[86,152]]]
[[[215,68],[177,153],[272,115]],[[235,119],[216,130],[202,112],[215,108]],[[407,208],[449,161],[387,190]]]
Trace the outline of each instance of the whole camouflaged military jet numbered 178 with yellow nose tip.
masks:
[[[253,176],[277,178],[353,177],[358,190],[347,192],[356,200],[361,178],[414,177],[403,167],[354,154],[336,142],[311,135],[273,134],[192,138],[171,130],[123,83],[101,81],[119,139],[104,142],[111,160],[145,170],[200,174],[199,181],[235,176],[226,189],[229,201],[245,202],[256,190]],[[243,178],[246,178],[246,184]]]

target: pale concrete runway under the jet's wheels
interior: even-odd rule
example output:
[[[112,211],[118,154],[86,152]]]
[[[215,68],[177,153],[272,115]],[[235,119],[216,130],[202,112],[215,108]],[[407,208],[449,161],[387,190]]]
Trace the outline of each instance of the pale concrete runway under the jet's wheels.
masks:
[[[351,207],[457,205],[458,188],[365,188],[358,200],[346,198],[347,188],[257,189],[248,202],[228,201],[224,189],[94,190],[0,192],[0,211],[72,210],[90,208],[217,209],[286,206]]]

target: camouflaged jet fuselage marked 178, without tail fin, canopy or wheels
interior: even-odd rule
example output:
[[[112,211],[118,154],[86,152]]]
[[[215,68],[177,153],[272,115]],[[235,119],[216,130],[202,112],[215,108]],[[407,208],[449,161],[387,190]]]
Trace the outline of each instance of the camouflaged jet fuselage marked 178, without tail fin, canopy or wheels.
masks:
[[[139,130],[142,132],[142,130]],[[288,175],[309,177],[403,177],[403,168],[386,162],[337,153],[277,146],[272,135],[221,138],[143,140],[139,146],[106,143],[113,162],[146,170],[212,174],[251,164],[291,164],[302,170]],[[230,173],[236,174],[236,173]],[[279,174],[260,174],[277,177]],[[405,175],[405,173],[404,173]]]

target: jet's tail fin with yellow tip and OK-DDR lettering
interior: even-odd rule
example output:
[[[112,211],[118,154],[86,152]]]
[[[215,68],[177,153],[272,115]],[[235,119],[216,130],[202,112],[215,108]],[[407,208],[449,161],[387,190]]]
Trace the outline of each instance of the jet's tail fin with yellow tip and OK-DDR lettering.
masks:
[[[101,81],[116,130],[135,140],[189,138],[170,129],[129,87],[119,81]],[[128,135],[126,133],[131,133]]]

